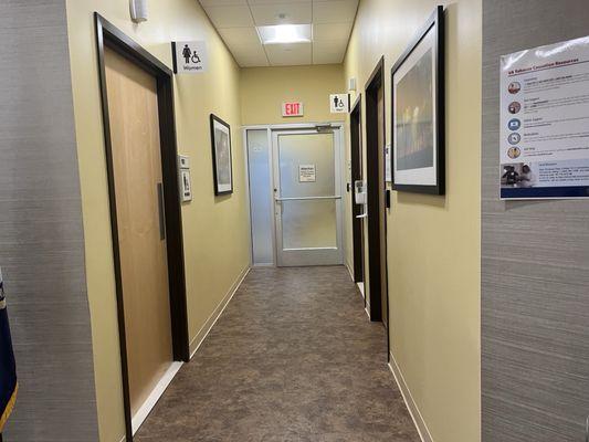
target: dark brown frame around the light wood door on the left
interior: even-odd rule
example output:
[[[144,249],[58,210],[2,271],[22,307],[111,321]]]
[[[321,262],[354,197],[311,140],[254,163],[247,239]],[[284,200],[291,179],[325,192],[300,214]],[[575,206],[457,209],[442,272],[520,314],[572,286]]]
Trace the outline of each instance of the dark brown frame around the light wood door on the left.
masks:
[[[126,440],[133,442],[130,415],[129,375],[127,361],[127,340],[125,336],[125,311],[123,304],[123,284],[120,275],[120,253],[118,246],[118,227],[115,198],[115,177],[108,116],[108,96],[106,91],[106,71],[104,62],[105,48],[125,56],[157,78],[158,116],[161,144],[161,171],[164,177],[164,197],[166,214],[166,241],[168,256],[168,284],[170,293],[170,316],[173,360],[188,362],[190,358],[188,337],[188,313],[186,304],[185,254],[182,240],[182,218],[180,208],[180,189],[178,182],[178,150],[176,145],[176,125],[173,116],[173,74],[168,66],[152,56],[135,41],[125,35],[97,12],[94,13],[96,25],[96,45],[98,55],[98,74],[101,83],[104,143],[106,168],[108,175],[108,198],[111,206],[111,231],[113,235],[113,256],[115,263],[115,282],[118,315],[118,339],[120,344],[120,364],[123,375],[123,402],[125,407]]]

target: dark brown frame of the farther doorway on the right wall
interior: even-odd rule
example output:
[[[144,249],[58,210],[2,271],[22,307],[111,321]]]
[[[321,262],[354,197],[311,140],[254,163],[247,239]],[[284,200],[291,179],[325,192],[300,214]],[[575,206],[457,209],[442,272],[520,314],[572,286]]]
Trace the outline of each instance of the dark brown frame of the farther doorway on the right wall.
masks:
[[[362,96],[356,99],[350,112],[350,159],[351,159],[351,233],[354,251],[354,282],[364,282],[364,229],[362,220],[356,218],[362,213],[362,207],[356,204],[355,182],[362,179]],[[366,307],[366,298],[365,298]]]

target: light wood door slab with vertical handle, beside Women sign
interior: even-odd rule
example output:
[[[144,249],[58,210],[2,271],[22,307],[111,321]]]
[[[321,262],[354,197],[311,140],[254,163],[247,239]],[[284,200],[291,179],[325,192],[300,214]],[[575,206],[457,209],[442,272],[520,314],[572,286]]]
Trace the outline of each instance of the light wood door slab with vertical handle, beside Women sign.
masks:
[[[172,362],[157,82],[105,49],[132,415]]]

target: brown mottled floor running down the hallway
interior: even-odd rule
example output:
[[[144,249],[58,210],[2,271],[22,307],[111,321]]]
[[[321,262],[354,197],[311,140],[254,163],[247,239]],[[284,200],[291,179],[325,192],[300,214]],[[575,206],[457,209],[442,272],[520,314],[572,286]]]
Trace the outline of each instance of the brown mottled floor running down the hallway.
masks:
[[[345,267],[253,269],[137,442],[419,435]]]

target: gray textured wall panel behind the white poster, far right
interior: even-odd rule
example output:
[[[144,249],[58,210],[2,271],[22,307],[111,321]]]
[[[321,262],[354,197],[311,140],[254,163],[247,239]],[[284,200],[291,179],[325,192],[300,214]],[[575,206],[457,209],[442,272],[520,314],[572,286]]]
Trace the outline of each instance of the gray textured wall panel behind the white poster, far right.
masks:
[[[587,0],[483,1],[484,442],[585,441],[589,201],[498,200],[499,56],[585,35]]]

